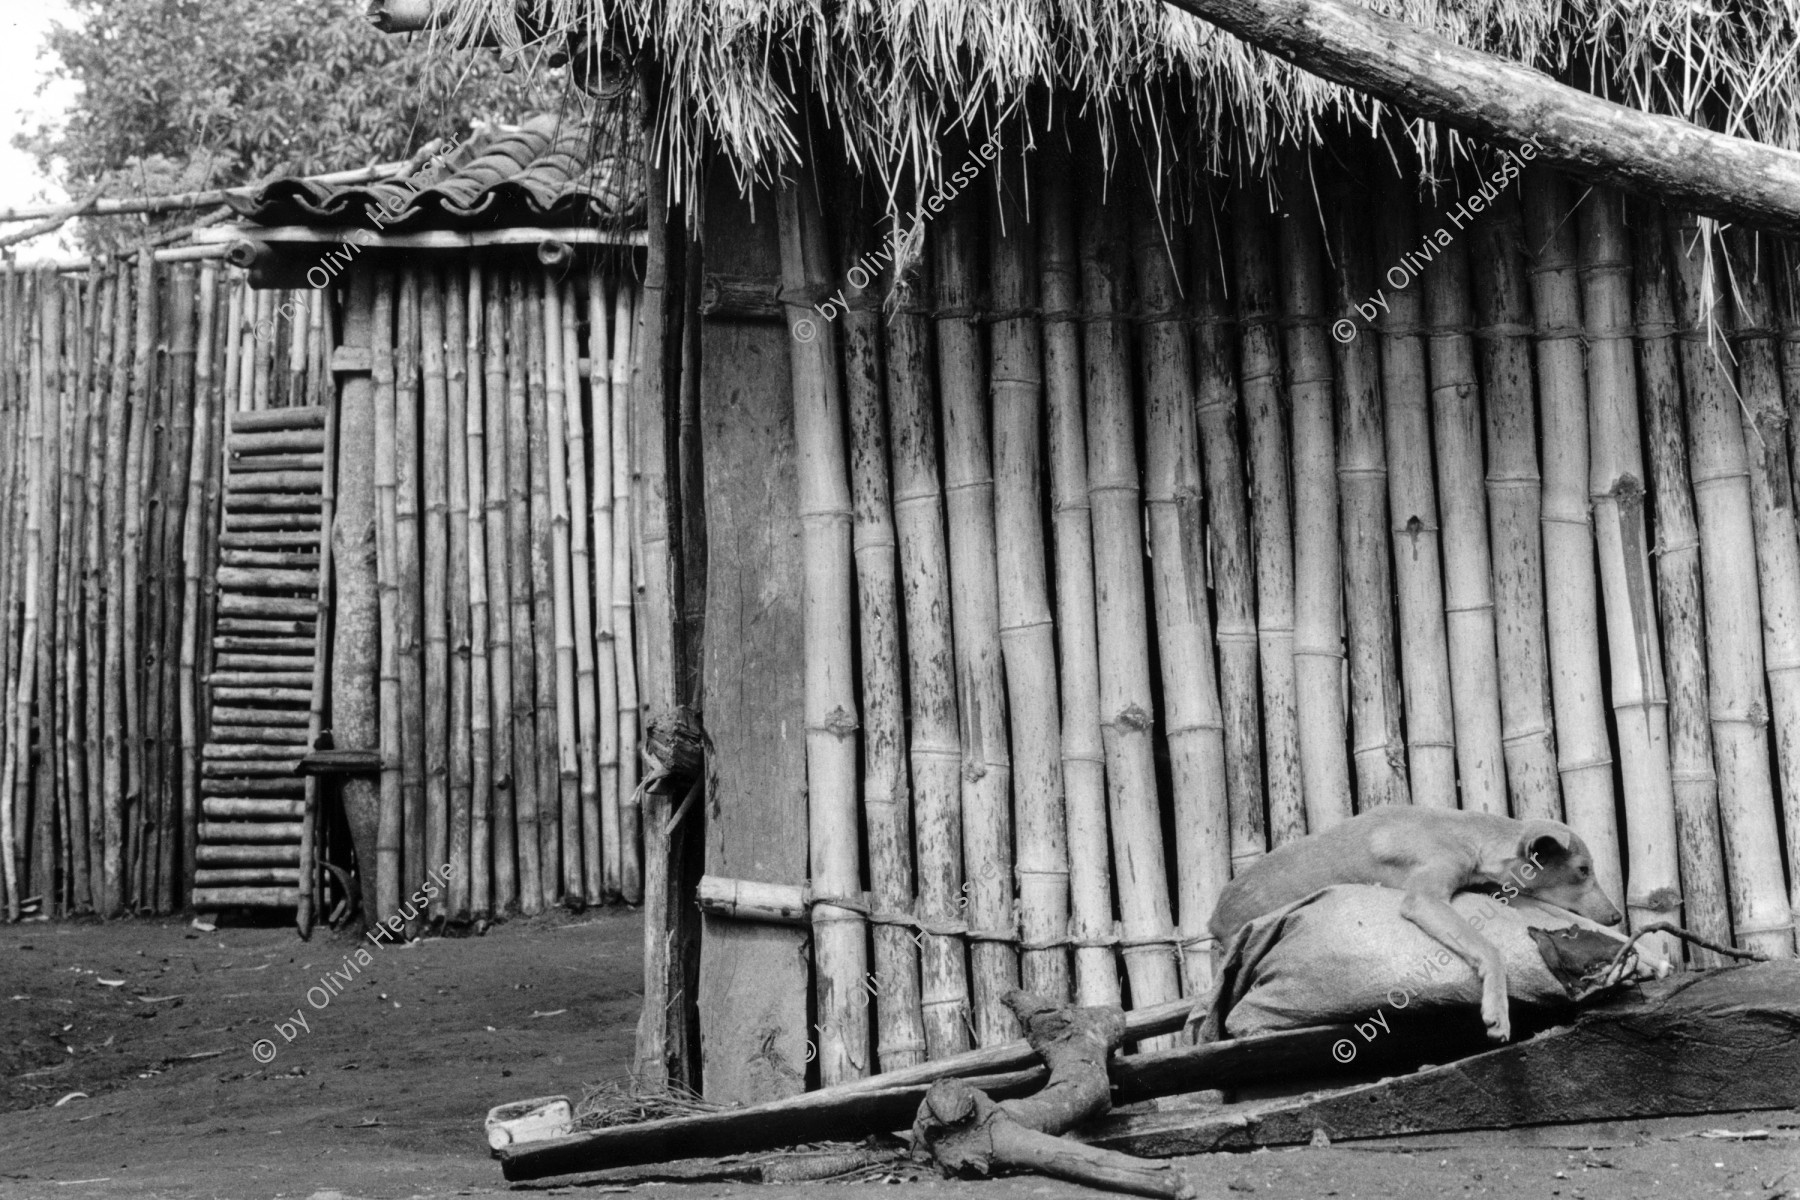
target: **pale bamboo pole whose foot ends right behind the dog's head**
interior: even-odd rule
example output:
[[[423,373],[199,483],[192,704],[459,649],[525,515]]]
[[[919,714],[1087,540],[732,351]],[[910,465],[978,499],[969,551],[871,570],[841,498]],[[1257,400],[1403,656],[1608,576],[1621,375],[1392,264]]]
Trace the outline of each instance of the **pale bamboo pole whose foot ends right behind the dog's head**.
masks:
[[[1550,700],[1557,721],[1562,811],[1593,855],[1607,896],[1624,896],[1618,819],[1613,811],[1613,743],[1600,678],[1598,587],[1588,509],[1588,381],[1580,288],[1575,277],[1573,203],[1562,176],[1525,173],[1525,236],[1532,248],[1532,313],[1537,326],[1537,394],[1544,446],[1544,578]]]

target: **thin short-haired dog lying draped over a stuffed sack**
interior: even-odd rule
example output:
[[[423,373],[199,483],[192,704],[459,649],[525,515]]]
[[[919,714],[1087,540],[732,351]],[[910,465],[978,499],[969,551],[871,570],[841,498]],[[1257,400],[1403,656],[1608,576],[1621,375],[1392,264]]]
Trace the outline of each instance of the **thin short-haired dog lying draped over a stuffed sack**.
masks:
[[[1481,1022],[1496,1042],[1512,1036],[1505,961],[1451,909],[1451,896],[1494,889],[1503,901],[1523,894],[1600,925],[1622,919],[1593,876],[1588,846],[1559,820],[1388,806],[1289,842],[1246,867],[1219,894],[1211,934],[1220,946],[1229,945],[1256,918],[1336,883],[1404,891],[1400,914],[1481,977]]]

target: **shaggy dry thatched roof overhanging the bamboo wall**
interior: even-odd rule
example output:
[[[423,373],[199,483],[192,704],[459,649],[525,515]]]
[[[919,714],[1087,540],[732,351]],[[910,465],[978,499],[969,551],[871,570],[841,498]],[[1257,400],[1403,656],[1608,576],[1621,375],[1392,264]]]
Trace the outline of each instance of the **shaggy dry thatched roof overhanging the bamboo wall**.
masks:
[[[598,38],[653,63],[653,146],[677,191],[706,148],[742,178],[776,176],[819,124],[889,189],[934,182],[956,166],[940,157],[947,131],[1031,104],[1035,137],[1089,110],[1109,135],[1134,122],[1213,169],[1384,119],[1427,157],[1456,148],[1157,0],[540,0],[529,34],[515,0],[434,2],[455,40],[529,54]],[[1609,99],[1800,149],[1800,0],[1363,2]]]

